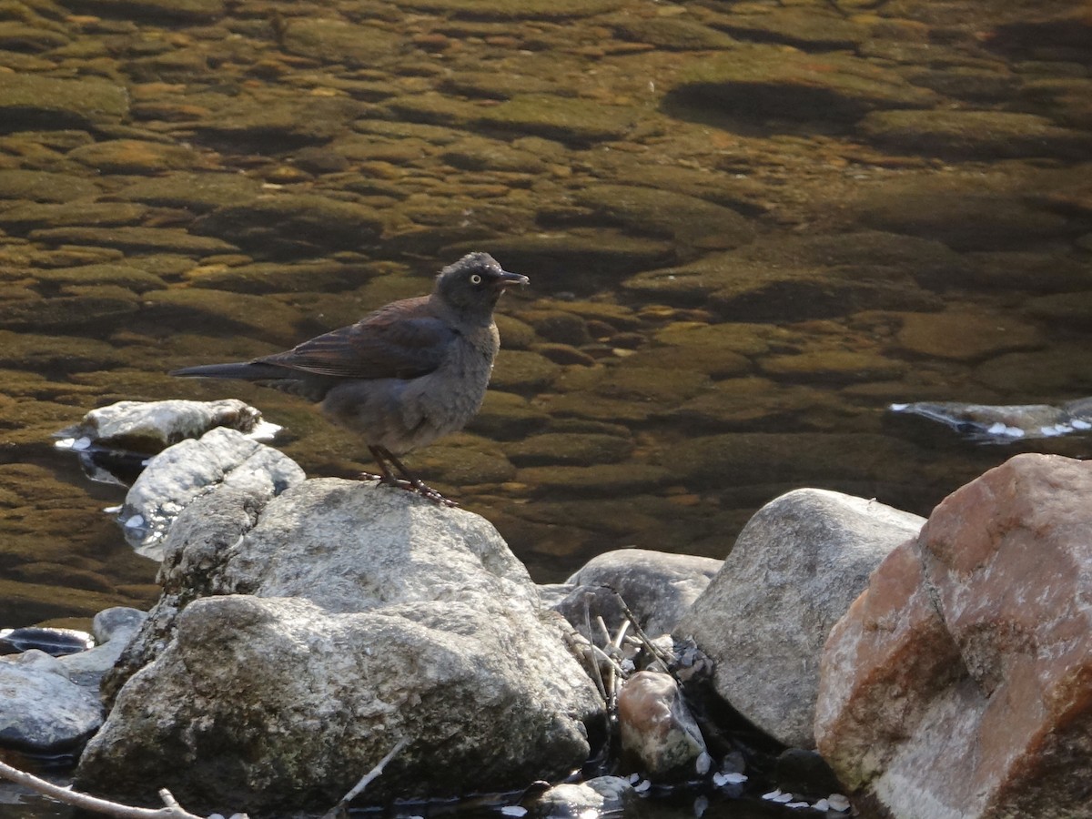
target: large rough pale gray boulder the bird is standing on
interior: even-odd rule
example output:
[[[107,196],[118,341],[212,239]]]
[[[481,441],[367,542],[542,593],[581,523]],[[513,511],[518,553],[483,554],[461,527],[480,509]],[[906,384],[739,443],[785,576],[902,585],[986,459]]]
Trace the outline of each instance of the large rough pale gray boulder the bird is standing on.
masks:
[[[522,787],[586,758],[603,702],[484,519],[317,479],[268,501],[218,489],[165,546],[82,785],[262,815],[328,808],[403,738],[369,799]]]

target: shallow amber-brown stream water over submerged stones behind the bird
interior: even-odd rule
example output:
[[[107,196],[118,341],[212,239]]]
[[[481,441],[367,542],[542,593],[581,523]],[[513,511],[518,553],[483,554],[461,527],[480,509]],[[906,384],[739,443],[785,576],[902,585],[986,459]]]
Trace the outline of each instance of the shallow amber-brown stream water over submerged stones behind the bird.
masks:
[[[147,606],[50,432],[487,250],[492,392],[408,459],[541,581],[724,557],[818,486],[927,514],[1017,451],[892,402],[1092,394],[1092,32],[1073,2],[15,2],[0,11],[0,627]],[[73,619],[74,618],[74,619]]]

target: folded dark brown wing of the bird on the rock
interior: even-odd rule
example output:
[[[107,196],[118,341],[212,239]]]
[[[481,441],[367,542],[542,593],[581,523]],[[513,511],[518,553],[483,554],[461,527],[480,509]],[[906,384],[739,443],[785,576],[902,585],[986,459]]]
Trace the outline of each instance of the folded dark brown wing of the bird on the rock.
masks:
[[[456,336],[428,310],[426,299],[406,299],[257,360],[337,378],[416,378],[440,366]]]

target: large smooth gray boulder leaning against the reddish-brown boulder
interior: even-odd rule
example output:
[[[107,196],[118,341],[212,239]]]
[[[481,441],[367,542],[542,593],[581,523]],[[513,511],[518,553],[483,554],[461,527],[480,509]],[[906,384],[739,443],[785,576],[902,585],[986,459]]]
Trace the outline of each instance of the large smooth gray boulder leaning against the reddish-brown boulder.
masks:
[[[675,629],[716,663],[714,686],[780,741],[814,748],[819,660],[868,575],[925,519],[823,489],[797,489],[747,523]]]

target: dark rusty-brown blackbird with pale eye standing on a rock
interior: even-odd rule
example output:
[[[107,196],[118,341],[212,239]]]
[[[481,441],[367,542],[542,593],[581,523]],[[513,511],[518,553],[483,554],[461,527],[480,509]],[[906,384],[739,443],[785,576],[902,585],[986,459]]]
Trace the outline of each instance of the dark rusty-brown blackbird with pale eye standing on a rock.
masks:
[[[506,288],[525,284],[488,253],[468,253],[440,272],[428,296],[393,301],[284,353],[171,375],[254,381],[321,402],[331,420],[364,435],[380,470],[370,477],[456,506],[399,455],[477,413],[500,347],[494,308]]]

